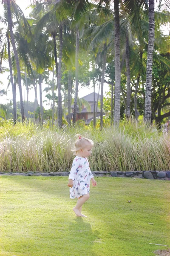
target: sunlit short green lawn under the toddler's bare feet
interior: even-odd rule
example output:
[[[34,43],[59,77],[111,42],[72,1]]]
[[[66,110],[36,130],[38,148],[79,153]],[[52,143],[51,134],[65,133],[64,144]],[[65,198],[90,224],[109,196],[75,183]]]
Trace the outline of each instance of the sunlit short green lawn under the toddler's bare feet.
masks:
[[[169,181],[96,180],[88,218],[78,218],[68,177],[1,176],[0,256],[154,256],[170,247]]]

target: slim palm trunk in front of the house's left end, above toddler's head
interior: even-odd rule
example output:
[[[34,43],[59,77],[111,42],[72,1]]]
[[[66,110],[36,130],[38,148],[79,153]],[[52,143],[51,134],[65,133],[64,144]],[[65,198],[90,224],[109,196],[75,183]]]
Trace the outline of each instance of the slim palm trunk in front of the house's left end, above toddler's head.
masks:
[[[74,112],[73,112],[73,124],[76,123],[77,117],[77,97],[79,89],[79,29],[77,29],[76,34],[76,92],[74,97]]]

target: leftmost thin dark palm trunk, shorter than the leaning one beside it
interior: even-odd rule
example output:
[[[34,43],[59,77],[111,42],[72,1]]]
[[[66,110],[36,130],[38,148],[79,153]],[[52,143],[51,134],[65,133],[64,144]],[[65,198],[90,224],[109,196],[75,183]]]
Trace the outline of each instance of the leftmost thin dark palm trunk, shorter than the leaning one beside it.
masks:
[[[17,122],[16,84],[14,84],[13,75],[12,75],[12,63],[11,63],[9,35],[7,35],[7,42],[8,42],[8,62],[9,62],[9,70],[10,70],[10,80],[11,80],[11,85],[12,85],[13,122],[14,122],[14,125],[15,125],[16,122]]]

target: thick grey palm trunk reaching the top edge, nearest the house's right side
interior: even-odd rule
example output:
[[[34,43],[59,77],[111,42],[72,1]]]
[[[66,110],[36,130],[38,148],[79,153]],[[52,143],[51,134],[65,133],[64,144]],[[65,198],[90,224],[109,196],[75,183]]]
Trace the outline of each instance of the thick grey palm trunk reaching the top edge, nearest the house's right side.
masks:
[[[120,24],[119,24],[119,0],[114,0],[114,49],[115,49],[115,100],[114,100],[114,124],[120,120]]]

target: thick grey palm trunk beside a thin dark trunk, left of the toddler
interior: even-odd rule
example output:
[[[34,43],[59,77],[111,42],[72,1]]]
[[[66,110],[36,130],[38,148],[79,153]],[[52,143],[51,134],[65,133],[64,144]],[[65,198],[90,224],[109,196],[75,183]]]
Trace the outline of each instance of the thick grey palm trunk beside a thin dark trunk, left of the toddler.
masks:
[[[58,67],[58,127],[62,128],[62,96],[61,96],[61,76],[62,76],[62,23],[59,24],[59,67]]]

